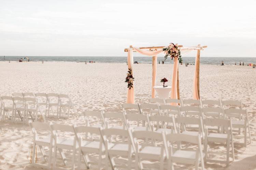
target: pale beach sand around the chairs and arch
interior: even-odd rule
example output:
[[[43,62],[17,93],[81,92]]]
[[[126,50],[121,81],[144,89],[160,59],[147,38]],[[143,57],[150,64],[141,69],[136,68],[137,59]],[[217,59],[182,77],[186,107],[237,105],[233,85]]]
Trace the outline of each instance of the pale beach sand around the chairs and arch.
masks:
[[[173,65],[158,64],[156,85],[166,77],[171,85]],[[127,84],[124,82],[127,65],[110,63],[73,63],[73,62],[0,62],[0,95],[13,92],[54,92],[69,94],[77,111],[85,110],[121,111],[121,104],[126,102]],[[179,66],[180,97],[193,97],[193,78],[195,66]],[[135,102],[147,102],[151,98],[151,64],[134,64],[133,69]],[[156,96],[157,97],[157,96]],[[213,100],[243,100],[243,107],[248,109],[251,122],[252,143],[243,147],[234,139],[235,161],[229,169],[256,168],[256,69],[249,66],[200,66],[200,97]],[[84,118],[78,120],[52,119],[63,124],[83,125]],[[47,121],[52,121],[47,119]],[[1,122],[5,133],[0,136],[0,169],[34,169],[29,162],[29,147],[32,133],[28,125]],[[212,150],[226,152],[223,145],[210,145]],[[225,160],[225,156],[218,156]],[[123,159],[120,159],[122,162]],[[231,160],[231,159],[230,159]],[[124,162],[125,163],[125,162]],[[180,166],[180,165],[179,165]],[[151,163],[147,168],[158,169],[158,163]],[[183,166],[180,166],[181,168]],[[208,163],[208,169],[225,169],[225,164]],[[191,168],[191,166],[183,167]]]

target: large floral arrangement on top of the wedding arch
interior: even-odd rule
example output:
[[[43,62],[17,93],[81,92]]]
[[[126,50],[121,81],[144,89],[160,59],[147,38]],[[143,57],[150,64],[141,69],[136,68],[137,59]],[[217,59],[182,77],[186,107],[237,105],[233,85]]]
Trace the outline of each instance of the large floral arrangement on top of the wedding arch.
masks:
[[[168,58],[168,56],[171,57],[171,60],[173,60],[174,57],[177,57],[179,60],[179,63],[182,63],[179,46],[176,46],[173,43],[170,43],[170,45],[167,48],[163,48],[163,51],[165,51],[165,60]]]

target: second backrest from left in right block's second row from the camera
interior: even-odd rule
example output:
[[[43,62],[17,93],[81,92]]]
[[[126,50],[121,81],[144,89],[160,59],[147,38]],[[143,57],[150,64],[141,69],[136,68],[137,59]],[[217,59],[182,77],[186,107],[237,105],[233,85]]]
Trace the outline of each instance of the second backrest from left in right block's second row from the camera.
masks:
[[[102,119],[106,128],[109,127],[109,123],[117,125],[116,123],[123,123],[125,127],[124,113],[123,112],[102,112]]]

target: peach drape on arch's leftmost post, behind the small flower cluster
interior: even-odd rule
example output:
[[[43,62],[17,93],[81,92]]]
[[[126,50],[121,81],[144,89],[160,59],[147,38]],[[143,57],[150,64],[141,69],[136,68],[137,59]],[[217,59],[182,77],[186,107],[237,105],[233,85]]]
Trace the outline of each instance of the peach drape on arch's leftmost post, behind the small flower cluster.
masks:
[[[132,74],[133,74],[133,52],[131,48],[128,48],[127,62],[128,62],[128,68],[132,69]],[[134,83],[133,83],[133,88],[131,89],[127,88],[127,103],[134,104]]]

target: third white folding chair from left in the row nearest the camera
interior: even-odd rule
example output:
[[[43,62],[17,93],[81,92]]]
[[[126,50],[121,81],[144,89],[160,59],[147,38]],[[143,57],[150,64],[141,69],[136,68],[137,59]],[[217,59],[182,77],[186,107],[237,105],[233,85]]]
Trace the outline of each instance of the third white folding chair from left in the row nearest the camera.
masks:
[[[102,154],[105,154],[105,147],[101,140],[100,129],[96,127],[89,126],[74,126],[75,136],[79,145],[79,158],[77,168],[81,169],[81,156],[85,162],[86,169],[90,168],[90,165],[94,162],[91,162],[88,154],[97,153],[99,154],[98,169],[101,168]],[[90,133],[90,136],[94,138],[88,138],[87,134]],[[84,138],[86,136],[86,138]],[[105,157],[105,164],[108,165],[108,158]]]

